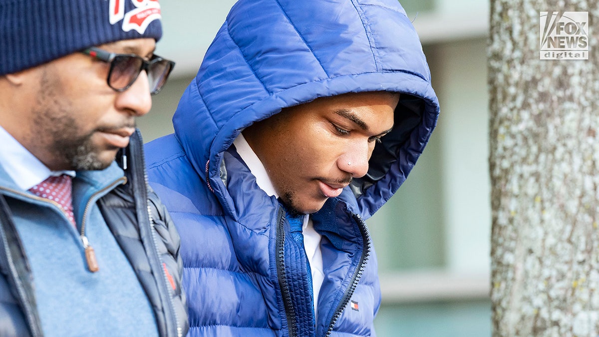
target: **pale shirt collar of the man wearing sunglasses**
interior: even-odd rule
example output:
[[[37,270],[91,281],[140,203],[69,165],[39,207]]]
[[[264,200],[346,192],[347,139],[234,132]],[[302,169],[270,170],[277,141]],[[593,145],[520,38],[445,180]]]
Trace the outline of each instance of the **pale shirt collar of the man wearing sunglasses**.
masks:
[[[75,176],[75,171],[51,171],[48,169],[2,127],[0,127],[0,144],[2,144],[0,163],[8,176],[23,191],[38,185],[50,176],[59,176],[60,174]]]

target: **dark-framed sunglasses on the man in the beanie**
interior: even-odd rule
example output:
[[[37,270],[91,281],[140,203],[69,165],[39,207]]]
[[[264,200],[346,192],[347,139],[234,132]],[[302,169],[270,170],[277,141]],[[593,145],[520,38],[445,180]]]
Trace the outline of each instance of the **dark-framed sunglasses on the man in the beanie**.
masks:
[[[110,88],[117,92],[123,92],[137,80],[141,71],[145,70],[150,82],[150,94],[155,95],[167,82],[168,75],[173,70],[175,62],[154,55],[150,61],[135,54],[117,54],[91,47],[83,50],[84,54],[92,58],[110,63],[107,83]]]

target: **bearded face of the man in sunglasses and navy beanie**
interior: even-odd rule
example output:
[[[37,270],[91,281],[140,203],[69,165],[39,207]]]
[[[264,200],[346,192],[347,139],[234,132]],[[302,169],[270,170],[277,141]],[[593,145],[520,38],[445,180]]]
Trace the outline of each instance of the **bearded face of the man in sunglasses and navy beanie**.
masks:
[[[142,38],[98,47],[150,58],[155,46]],[[131,88],[116,92],[107,85],[109,69],[107,62],[73,53],[17,73],[26,105],[2,126],[51,170],[104,169],[128,145],[134,118],[152,107],[145,71]]]

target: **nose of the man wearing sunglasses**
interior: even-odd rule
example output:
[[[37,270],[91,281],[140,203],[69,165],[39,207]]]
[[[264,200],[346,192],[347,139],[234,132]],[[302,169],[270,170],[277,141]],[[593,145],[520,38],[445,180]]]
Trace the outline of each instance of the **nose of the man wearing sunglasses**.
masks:
[[[118,95],[116,106],[117,109],[129,111],[134,116],[143,116],[150,112],[152,96],[146,71],[141,71],[129,89]]]

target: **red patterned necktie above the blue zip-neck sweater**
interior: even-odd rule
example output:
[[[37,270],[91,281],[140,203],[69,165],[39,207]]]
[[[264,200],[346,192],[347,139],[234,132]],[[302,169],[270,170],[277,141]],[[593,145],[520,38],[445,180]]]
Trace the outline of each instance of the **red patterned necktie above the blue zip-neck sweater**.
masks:
[[[71,224],[77,227],[75,216],[73,215],[71,176],[67,174],[50,176],[48,179],[30,188],[29,191],[38,197],[58,203],[60,208],[65,212],[66,217],[71,221]]]

